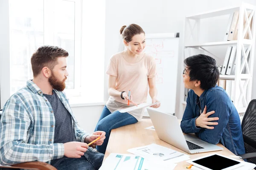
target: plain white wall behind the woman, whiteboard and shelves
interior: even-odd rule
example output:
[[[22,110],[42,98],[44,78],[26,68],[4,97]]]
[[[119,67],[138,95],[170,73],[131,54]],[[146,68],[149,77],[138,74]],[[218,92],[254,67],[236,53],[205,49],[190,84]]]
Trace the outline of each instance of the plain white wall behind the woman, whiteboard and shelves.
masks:
[[[244,2],[256,5],[255,0],[244,0]],[[105,37],[105,71],[108,66],[109,58],[122,50],[122,40],[119,29],[123,25],[136,23],[140,25],[146,34],[180,32],[180,53],[183,54],[183,28],[184,17],[188,14],[196,14],[208,10],[224,8],[229,6],[239,6],[241,0],[107,0],[106,1],[106,37]],[[227,25],[226,17],[216,20],[215,23],[209,23],[209,29],[216,31],[219,26]],[[214,35],[214,34],[212,34]],[[219,38],[214,37],[212,38]],[[179,113],[180,105],[180,82],[182,76],[181,57],[178,63],[177,78],[177,99],[176,115],[181,118]],[[255,60],[256,62],[256,60]],[[256,77],[256,69],[254,69]],[[256,79],[253,80],[253,86],[256,85]],[[108,99],[108,76],[105,74],[104,100]],[[253,89],[253,98],[256,98],[256,90]]]

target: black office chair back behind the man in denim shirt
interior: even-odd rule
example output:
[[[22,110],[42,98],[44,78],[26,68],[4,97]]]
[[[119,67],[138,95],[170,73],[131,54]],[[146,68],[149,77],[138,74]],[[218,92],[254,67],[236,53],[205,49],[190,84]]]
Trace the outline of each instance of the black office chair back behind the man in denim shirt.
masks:
[[[245,154],[242,159],[256,164],[256,99],[250,101],[241,123]]]

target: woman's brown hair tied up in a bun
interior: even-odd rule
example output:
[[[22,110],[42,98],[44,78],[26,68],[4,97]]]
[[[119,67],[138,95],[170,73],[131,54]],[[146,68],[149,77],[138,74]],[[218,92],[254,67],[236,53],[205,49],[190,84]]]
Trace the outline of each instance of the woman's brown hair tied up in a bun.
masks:
[[[145,34],[143,29],[137,24],[122,26],[122,28],[120,29],[120,34],[122,36],[122,39],[124,39],[126,42],[130,42],[134,35],[142,34],[142,33]]]

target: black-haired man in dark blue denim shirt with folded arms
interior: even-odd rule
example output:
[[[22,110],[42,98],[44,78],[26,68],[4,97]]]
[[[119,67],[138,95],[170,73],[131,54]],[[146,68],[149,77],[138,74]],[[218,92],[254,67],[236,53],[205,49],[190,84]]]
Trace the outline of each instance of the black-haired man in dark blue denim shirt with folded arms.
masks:
[[[216,85],[219,71],[212,57],[199,54],[184,60],[183,82],[191,89],[180,127],[200,139],[223,144],[236,155],[244,154],[239,114],[226,91]]]

